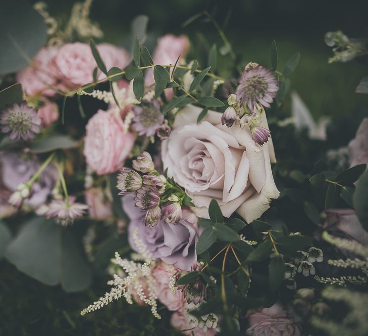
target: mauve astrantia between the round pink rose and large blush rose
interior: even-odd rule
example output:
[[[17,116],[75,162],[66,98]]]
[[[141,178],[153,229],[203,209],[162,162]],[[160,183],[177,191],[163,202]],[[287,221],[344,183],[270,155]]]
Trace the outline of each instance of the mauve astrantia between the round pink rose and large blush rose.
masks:
[[[156,100],[153,100],[149,105],[135,107],[133,112],[135,113],[133,126],[139,135],[154,135],[156,129],[163,122],[163,114]]]

